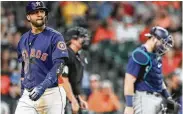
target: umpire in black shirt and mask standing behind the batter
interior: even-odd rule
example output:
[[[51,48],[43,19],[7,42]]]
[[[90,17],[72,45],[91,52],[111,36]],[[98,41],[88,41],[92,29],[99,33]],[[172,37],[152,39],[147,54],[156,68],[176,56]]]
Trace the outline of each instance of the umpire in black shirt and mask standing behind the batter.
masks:
[[[73,27],[66,32],[65,42],[68,47],[69,60],[64,67],[62,78],[73,113],[78,113],[79,108],[87,109],[87,103],[81,98],[81,80],[85,62],[78,51],[89,47],[88,31],[82,27]]]

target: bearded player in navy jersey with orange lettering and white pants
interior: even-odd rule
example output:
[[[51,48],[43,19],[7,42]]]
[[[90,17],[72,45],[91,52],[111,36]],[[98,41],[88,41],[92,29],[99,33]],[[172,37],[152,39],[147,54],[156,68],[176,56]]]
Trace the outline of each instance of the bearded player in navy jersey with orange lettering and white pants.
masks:
[[[22,35],[17,47],[23,92],[15,114],[64,114],[66,93],[58,87],[56,74],[68,58],[64,38],[45,26],[48,9],[43,2],[28,2],[26,13],[31,30]]]

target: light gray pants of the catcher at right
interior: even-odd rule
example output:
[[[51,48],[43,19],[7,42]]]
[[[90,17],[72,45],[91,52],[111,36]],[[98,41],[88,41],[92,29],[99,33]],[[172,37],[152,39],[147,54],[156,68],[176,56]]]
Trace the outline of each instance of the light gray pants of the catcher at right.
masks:
[[[148,94],[145,91],[136,91],[134,95],[134,111],[135,114],[162,114],[161,104],[162,96]]]

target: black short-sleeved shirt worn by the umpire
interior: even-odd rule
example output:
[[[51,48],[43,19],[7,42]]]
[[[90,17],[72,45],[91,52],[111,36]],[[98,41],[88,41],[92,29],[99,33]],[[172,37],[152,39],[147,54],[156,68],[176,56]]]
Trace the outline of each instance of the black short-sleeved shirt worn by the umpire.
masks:
[[[81,93],[81,80],[83,78],[83,68],[84,62],[81,60],[78,53],[68,47],[69,60],[67,61],[67,66],[69,68],[68,78],[71,83],[71,87],[74,95],[79,95]],[[65,77],[65,75],[63,75]]]

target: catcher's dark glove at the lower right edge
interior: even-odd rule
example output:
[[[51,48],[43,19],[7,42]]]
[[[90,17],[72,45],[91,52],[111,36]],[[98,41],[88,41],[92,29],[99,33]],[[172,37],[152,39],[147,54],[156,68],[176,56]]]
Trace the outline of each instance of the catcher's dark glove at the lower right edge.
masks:
[[[167,113],[168,114],[178,114],[180,104],[175,102],[173,99],[166,100]]]

